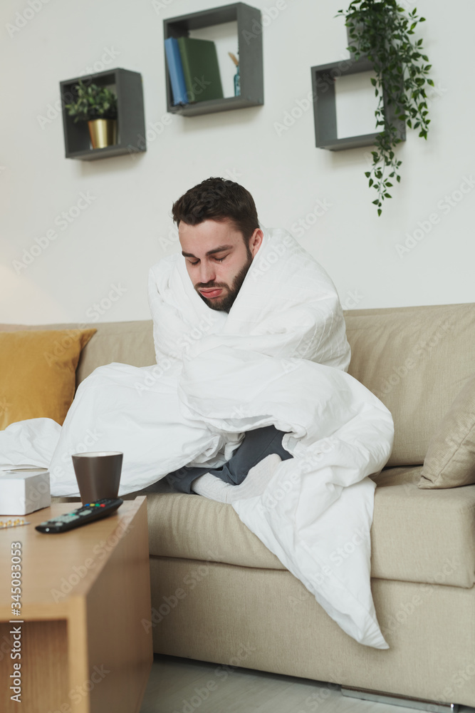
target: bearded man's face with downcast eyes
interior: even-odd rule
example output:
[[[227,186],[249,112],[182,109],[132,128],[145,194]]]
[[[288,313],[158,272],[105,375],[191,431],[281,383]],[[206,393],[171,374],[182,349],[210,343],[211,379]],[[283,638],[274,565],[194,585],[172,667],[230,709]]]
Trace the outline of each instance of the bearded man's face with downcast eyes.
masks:
[[[211,309],[229,312],[263,233],[256,229],[249,240],[231,220],[204,220],[199,225],[180,222],[178,237],[194,289]]]

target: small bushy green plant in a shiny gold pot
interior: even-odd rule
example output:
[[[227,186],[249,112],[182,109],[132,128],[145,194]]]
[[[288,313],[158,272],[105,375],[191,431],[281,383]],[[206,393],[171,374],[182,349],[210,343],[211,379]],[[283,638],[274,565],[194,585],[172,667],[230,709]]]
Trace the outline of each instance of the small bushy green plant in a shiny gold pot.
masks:
[[[117,143],[117,96],[97,84],[86,86],[80,79],[74,87],[78,98],[66,104],[74,122],[87,121],[93,148],[105,148]]]

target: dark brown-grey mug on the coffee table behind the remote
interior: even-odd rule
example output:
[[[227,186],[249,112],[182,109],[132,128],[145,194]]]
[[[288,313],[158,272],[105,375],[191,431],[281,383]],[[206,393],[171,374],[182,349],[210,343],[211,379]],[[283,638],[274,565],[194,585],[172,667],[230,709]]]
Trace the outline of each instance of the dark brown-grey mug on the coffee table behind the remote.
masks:
[[[103,498],[117,498],[123,456],[118,451],[74,453],[74,472],[83,505]]]

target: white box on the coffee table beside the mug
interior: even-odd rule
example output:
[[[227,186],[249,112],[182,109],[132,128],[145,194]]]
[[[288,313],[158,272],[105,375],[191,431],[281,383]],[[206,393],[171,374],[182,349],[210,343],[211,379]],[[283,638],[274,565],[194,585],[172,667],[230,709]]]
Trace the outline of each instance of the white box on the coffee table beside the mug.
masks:
[[[25,468],[0,472],[0,515],[28,515],[50,505],[48,471]]]

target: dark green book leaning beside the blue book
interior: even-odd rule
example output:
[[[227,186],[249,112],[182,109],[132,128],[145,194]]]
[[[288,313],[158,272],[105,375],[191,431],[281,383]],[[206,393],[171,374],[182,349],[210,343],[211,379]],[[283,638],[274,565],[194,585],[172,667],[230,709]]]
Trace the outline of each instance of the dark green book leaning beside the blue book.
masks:
[[[179,37],[178,46],[189,101],[222,99],[223,88],[214,42]]]

